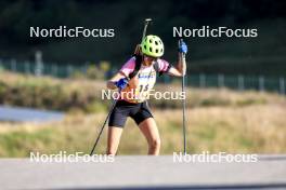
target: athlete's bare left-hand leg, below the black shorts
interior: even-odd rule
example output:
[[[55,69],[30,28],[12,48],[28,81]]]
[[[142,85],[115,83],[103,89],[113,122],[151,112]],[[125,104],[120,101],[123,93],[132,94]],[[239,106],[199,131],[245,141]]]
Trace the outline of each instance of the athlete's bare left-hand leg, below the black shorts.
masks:
[[[118,149],[118,145],[120,141],[120,137],[123,128],[116,126],[108,126],[108,135],[107,135],[107,154],[115,155]]]

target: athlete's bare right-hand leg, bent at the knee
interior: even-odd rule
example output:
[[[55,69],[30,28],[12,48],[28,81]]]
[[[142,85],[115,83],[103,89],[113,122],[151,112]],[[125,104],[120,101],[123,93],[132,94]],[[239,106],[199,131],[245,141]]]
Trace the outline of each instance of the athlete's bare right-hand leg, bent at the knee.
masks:
[[[148,154],[158,155],[160,151],[160,136],[153,118],[148,118],[139,124],[148,142]]]

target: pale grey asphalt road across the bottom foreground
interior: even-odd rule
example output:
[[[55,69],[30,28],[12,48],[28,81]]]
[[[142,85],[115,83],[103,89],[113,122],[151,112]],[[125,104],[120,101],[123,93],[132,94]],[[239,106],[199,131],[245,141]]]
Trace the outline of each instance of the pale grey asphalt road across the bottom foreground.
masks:
[[[0,189],[286,189],[286,155],[255,163],[174,163],[172,155],[113,163],[0,160]]]

